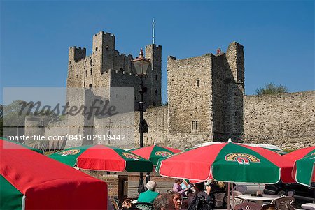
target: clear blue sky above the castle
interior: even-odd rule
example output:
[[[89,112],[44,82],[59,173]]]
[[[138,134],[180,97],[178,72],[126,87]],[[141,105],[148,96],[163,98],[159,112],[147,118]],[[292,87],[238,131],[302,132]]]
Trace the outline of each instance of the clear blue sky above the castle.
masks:
[[[92,35],[116,35],[116,50],[162,45],[162,100],[167,56],[178,59],[244,45],[245,91],[274,82],[290,92],[315,89],[314,1],[1,1],[1,89],[65,87],[68,49],[92,52]],[[0,93],[0,103],[3,101]]]

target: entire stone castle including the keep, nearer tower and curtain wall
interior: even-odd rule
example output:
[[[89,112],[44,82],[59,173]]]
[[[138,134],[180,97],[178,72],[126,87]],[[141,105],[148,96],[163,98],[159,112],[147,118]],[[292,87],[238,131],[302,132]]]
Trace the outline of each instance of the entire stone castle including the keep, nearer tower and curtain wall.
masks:
[[[67,100],[75,105],[89,104],[89,91],[94,97],[115,100],[112,88],[134,87],[125,97],[134,98],[134,109],[140,95],[140,78],[132,65],[132,55],[120,54],[115,36],[99,32],[93,36],[92,54],[85,48],[69,48],[67,87],[85,88],[83,95],[68,93]],[[233,42],[226,52],[200,57],[167,59],[168,105],[161,105],[162,47],[147,45],[145,57],[150,59],[144,84],[146,107],[144,118],[148,133],[144,144],[161,144],[184,149],[203,142],[251,142],[276,144],[282,148],[307,147],[315,143],[315,91],[284,93],[271,96],[244,95],[244,47]],[[132,142],[111,142],[132,148],[139,145],[139,112],[120,114],[115,121],[131,119]],[[27,125],[43,123],[43,119],[26,119]],[[71,126],[76,124],[76,126]],[[48,124],[43,135],[82,135],[117,132],[104,126],[104,119],[68,117]],[[67,125],[67,126],[65,126]],[[38,128],[39,129],[39,128]],[[124,130],[124,128],[119,128]],[[30,131],[27,131],[30,133]],[[83,142],[84,143],[84,142]],[[71,144],[66,144],[71,147]]]

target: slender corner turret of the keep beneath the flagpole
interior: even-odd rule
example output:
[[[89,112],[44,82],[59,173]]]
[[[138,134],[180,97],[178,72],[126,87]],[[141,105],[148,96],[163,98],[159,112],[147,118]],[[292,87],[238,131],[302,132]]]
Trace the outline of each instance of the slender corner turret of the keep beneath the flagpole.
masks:
[[[148,67],[146,75],[146,104],[155,107],[161,105],[161,84],[162,84],[162,46],[146,45],[146,58],[150,59],[151,66]]]

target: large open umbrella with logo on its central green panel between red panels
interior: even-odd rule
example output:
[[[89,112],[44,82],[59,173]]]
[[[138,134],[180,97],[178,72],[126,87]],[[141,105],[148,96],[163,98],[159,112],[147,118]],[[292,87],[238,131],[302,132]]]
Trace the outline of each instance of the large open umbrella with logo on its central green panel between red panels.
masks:
[[[190,149],[159,160],[156,171],[164,177],[193,181],[216,179],[229,182],[284,183],[291,177],[293,163],[261,147],[223,143]]]

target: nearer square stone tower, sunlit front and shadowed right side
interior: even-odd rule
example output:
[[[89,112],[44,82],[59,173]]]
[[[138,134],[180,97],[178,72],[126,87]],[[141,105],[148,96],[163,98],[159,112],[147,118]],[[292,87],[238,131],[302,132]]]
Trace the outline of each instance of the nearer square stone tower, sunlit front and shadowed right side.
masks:
[[[243,133],[244,52],[231,43],[227,54],[167,60],[169,140],[226,142]]]

